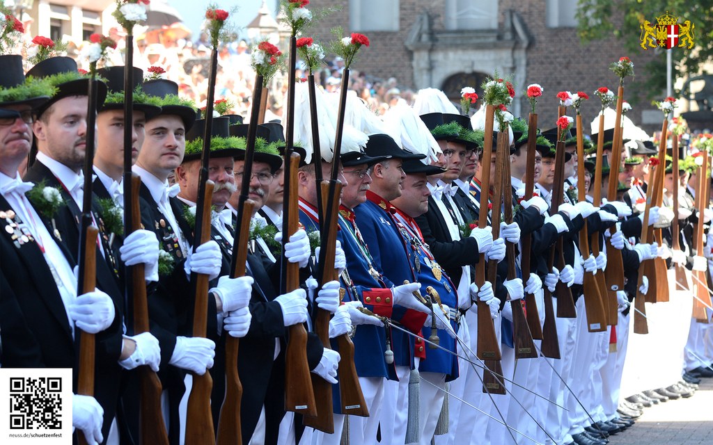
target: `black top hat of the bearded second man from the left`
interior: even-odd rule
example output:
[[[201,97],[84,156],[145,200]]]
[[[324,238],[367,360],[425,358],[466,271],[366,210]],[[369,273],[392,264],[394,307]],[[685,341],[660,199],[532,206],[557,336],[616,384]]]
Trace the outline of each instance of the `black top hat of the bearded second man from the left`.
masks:
[[[77,71],[77,63],[73,58],[69,57],[51,57],[45,59],[38,63],[37,65],[30,68],[27,72],[28,77],[32,76],[34,78],[47,78],[51,75],[62,74],[62,73],[77,73],[77,79],[69,80],[65,83],[60,83],[55,85],[57,92],[48,100],[43,103],[37,109],[37,116],[41,116],[53,103],[63,98],[68,98],[71,96],[86,96],[88,94],[89,88],[89,78],[79,78],[79,73]],[[101,105],[106,99],[106,85],[103,82],[95,81],[96,88],[96,103],[97,107],[101,108]]]

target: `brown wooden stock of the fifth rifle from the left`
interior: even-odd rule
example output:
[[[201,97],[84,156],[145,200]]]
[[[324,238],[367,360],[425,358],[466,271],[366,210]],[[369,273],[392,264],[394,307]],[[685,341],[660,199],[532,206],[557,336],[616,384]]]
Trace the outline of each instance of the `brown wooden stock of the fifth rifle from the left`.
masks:
[[[297,231],[299,225],[299,215],[297,214],[299,155],[292,150],[285,150],[285,157],[283,242],[289,239],[290,234]],[[284,246],[282,251],[284,252]],[[287,258],[282,258],[282,261],[283,290],[289,292],[299,288],[299,264],[290,263]],[[292,325],[288,330],[289,340],[284,357],[284,408],[286,411],[314,417],[317,415],[317,407],[314,402],[312,379],[309,377],[309,365],[307,364],[307,331],[304,330],[302,323]]]

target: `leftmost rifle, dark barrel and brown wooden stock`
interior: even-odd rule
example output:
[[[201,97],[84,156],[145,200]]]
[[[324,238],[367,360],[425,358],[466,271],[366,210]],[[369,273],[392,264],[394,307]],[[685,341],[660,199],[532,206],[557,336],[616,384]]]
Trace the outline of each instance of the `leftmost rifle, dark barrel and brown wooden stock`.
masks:
[[[94,163],[94,134],[96,127],[96,82],[94,70],[88,86],[88,110],[86,130],[86,156],[84,158],[84,195],[82,200],[82,216],[79,229],[79,261],[77,276],[77,295],[83,295],[96,289],[96,250],[99,229],[94,226],[91,213],[92,178]],[[94,365],[96,357],[96,337],[94,334],[78,330],[79,342],[79,372],[77,379],[77,394],[94,395]],[[86,437],[77,434],[80,445],[86,445]]]

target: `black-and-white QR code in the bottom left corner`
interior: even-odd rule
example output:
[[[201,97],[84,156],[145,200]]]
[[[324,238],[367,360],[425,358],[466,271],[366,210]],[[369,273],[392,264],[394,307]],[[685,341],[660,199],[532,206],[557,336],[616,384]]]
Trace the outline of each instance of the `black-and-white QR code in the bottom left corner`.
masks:
[[[61,377],[10,378],[10,429],[62,429]]]

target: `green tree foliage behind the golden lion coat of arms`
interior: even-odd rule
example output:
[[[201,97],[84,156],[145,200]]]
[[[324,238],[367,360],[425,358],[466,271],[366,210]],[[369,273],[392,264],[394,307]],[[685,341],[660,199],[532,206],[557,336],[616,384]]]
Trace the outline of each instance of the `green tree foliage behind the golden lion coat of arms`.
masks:
[[[578,34],[583,43],[614,36],[627,51],[644,52],[640,46],[640,25],[666,11],[679,17],[679,23],[694,23],[695,46],[672,51],[674,78],[702,73],[704,63],[713,61],[713,0],[579,0]],[[648,98],[660,95],[666,88],[665,48],[650,48],[657,54],[645,66],[645,83],[640,93]],[[641,72],[637,70],[638,72]],[[639,88],[637,88],[639,89]]]

